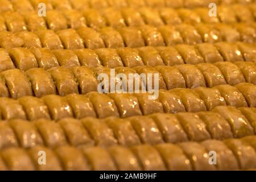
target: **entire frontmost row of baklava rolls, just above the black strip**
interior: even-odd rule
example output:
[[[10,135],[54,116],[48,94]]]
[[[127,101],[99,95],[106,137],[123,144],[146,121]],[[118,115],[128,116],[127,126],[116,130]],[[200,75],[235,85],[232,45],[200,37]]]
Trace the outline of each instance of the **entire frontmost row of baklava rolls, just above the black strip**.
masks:
[[[255,150],[255,136],[133,147],[10,147],[0,152],[0,170],[245,170],[256,168]]]

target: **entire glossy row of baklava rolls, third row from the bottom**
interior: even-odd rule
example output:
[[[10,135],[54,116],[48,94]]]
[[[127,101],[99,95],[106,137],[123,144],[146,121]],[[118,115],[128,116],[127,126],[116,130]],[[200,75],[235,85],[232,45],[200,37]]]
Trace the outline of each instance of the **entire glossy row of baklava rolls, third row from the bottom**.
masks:
[[[256,86],[241,83],[236,86],[219,85],[214,88],[155,90],[152,93],[90,92],[86,95],[47,95],[42,98],[24,96],[14,100],[0,97],[2,119],[39,118],[58,120],[62,118],[121,117],[148,115],[152,113],[179,113],[212,110],[216,106],[255,107]],[[24,89],[26,91],[26,89]]]

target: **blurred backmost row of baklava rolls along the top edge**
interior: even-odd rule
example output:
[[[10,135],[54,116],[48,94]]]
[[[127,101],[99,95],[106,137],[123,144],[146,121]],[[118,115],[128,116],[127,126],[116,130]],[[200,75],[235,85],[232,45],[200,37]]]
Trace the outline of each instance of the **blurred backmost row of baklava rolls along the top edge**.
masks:
[[[139,8],[139,7],[172,7],[195,8],[208,7],[209,3],[216,5],[232,5],[234,3],[249,4],[254,0],[1,0],[0,13],[6,11],[31,11],[37,10],[39,3],[44,3],[47,10],[84,10],[114,8]]]

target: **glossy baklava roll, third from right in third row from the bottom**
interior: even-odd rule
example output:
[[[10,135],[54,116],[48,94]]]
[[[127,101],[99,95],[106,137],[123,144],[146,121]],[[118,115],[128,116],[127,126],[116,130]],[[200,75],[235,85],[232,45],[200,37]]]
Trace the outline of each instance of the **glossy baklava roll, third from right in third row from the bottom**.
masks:
[[[204,101],[207,110],[212,110],[216,106],[226,105],[224,97],[221,96],[220,91],[216,88],[205,88],[200,86],[194,91],[199,94],[200,98]]]

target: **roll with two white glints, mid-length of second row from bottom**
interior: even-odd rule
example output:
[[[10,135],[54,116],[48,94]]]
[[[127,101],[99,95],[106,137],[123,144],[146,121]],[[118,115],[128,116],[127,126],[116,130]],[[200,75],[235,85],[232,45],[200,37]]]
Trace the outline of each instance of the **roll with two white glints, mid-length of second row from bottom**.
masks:
[[[154,120],[147,116],[134,116],[128,118],[142,143],[163,143],[163,137]]]

